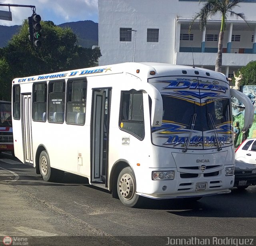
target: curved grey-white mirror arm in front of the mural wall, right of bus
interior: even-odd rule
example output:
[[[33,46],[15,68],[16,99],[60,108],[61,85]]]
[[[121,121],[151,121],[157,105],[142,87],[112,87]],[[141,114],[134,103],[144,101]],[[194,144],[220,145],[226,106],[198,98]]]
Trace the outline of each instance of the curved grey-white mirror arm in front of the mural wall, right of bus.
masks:
[[[250,128],[252,126],[253,118],[254,118],[254,108],[252,101],[248,96],[244,93],[230,89],[231,96],[237,98],[240,102],[242,102],[245,106],[244,110],[244,128]]]

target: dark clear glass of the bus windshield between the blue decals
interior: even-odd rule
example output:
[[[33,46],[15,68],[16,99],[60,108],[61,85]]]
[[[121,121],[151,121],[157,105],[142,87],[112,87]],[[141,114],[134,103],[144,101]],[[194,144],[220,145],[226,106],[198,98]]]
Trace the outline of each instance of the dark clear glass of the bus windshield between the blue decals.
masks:
[[[162,95],[163,122],[182,124],[191,129],[192,119],[196,114],[194,129],[196,131],[214,130],[214,126],[230,121],[230,104],[228,98],[209,100],[204,103],[192,102],[173,96]]]

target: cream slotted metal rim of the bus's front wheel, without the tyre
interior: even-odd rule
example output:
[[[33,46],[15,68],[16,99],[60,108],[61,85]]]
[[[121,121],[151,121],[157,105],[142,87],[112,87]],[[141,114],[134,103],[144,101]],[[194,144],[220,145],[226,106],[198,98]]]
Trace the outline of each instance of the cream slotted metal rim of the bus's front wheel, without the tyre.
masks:
[[[122,175],[119,181],[119,192],[125,199],[129,200],[134,195],[134,180],[128,173]]]

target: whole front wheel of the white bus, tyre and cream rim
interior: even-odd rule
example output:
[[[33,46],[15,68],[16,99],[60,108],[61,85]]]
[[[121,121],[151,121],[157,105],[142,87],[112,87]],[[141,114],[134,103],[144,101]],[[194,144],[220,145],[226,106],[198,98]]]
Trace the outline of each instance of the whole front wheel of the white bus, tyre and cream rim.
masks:
[[[125,206],[138,207],[140,196],[136,194],[136,181],[130,167],[124,167],[120,171],[117,179],[117,193]]]

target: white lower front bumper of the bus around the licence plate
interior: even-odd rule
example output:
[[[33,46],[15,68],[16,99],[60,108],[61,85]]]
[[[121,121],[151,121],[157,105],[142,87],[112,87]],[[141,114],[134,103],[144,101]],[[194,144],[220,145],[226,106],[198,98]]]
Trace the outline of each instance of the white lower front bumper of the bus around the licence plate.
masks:
[[[153,171],[153,169],[150,171]],[[136,193],[154,199],[201,197],[230,193],[230,188],[234,185],[235,176],[225,176],[225,166],[218,171],[218,175],[216,176],[207,176],[204,175],[205,173],[198,173],[197,177],[182,178],[177,169],[174,172],[173,180],[152,180],[149,178],[151,176],[148,172],[145,175],[147,180],[144,179],[143,182],[137,182]],[[200,184],[203,184],[203,189],[198,190]]]

